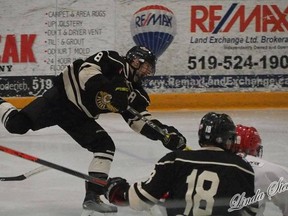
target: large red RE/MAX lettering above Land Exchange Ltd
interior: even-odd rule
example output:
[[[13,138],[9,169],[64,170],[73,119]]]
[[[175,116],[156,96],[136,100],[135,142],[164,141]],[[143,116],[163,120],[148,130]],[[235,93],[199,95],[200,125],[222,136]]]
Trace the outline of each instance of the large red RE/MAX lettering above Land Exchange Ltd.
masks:
[[[255,32],[288,32],[288,6],[284,10],[275,4],[256,5],[252,10],[246,7],[233,3],[223,11],[223,5],[193,5],[191,32],[217,34],[229,32],[232,27],[238,27],[239,32],[245,32],[248,27]]]

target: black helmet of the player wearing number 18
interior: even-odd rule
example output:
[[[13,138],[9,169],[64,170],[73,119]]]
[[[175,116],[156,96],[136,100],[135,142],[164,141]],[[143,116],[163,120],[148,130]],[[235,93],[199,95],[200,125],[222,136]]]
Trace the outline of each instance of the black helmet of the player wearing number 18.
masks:
[[[236,142],[236,126],[227,114],[207,113],[200,121],[199,145],[214,145],[232,150]]]

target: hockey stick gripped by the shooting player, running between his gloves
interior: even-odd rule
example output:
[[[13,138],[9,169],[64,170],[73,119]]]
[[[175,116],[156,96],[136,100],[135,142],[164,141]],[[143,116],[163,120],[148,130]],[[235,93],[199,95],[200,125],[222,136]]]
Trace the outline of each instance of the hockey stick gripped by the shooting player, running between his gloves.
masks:
[[[138,112],[137,110],[135,110],[133,107],[128,106],[128,107],[127,107],[127,110],[128,110],[131,114],[133,114],[133,115],[135,115],[137,118],[139,118],[140,120],[144,121],[148,126],[150,126],[151,128],[153,128],[155,131],[157,131],[158,133],[162,134],[162,135],[164,136],[164,139],[165,139],[166,141],[169,140],[170,134],[169,134],[166,130],[162,129],[161,127],[159,127],[158,125],[156,125],[156,124],[154,124],[152,121],[150,121],[149,119],[145,118],[145,116],[141,115],[141,113],[139,113],[139,112]],[[181,138],[182,138],[182,137],[181,137]],[[184,139],[181,139],[179,142],[181,143],[181,145],[186,144]],[[186,146],[186,147],[184,148],[184,150],[191,150],[191,148],[188,147],[188,146]]]

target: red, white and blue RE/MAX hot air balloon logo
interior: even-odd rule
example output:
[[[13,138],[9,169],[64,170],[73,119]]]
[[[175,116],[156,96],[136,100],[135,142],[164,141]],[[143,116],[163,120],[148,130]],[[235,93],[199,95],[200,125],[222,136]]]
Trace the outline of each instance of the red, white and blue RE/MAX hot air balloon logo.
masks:
[[[176,19],[167,7],[149,5],[133,14],[130,28],[136,45],[147,47],[158,58],[176,35]]]

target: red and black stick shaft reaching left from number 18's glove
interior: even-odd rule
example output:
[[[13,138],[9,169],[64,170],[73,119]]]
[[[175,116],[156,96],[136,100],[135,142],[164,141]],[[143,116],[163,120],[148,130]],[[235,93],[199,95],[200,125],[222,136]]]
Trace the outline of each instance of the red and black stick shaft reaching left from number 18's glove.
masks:
[[[19,151],[16,151],[16,150],[13,150],[13,149],[1,146],[1,145],[0,145],[0,151],[3,151],[5,153],[8,153],[8,154],[11,154],[11,155],[14,155],[14,156],[17,156],[17,157],[20,157],[20,158],[35,162],[35,163],[39,163],[41,165],[50,167],[52,169],[56,169],[58,171],[61,171],[61,172],[64,172],[64,173],[67,173],[67,174],[70,174],[70,175],[73,175],[73,176],[76,176],[78,178],[85,179],[86,181],[89,181],[91,183],[100,185],[102,187],[106,186],[106,184],[107,184],[107,182],[104,181],[104,180],[101,180],[101,179],[86,175],[84,173],[80,173],[80,172],[78,172],[76,170],[72,170],[72,169],[60,166],[58,164],[54,164],[54,163],[51,163],[49,161],[45,161],[45,160],[37,158],[35,156],[28,155],[28,154],[25,154],[23,152],[19,152]]]

